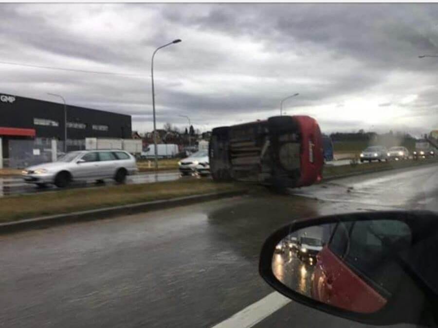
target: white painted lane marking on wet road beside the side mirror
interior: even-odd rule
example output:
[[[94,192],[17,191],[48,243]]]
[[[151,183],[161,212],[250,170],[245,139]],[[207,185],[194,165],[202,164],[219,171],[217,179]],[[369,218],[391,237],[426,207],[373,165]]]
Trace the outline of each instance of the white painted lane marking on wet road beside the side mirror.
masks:
[[[280,293],[270,293],[256,303],[251,304],[245,309],[238,311],[227,320],[222,321],[212,328],[250,328],[258,324],[267,316],[281,309],[288,304],[291,299]]]

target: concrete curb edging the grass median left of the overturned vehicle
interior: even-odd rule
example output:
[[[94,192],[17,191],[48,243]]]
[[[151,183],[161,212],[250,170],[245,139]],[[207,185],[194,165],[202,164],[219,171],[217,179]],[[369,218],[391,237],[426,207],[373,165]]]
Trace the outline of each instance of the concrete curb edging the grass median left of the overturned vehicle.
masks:
[[[128,204],[114,207],[104,207],[98,209],[91,209],[85,211],[56,214],[50,216],[42,216],[33,219],[25,219],[14,222],[7,222],[0,224],[0,235],[8,234],[23,230],[30,230],[36,228],[47,228],[55,225],[70,224],[76,222],[87,222],[101,219],[108,219],[110,217],[119,215],[129,215],[135,213],[146,213],[149,211],[166,209],[172,207],[179,207],[184,205],[191,205],[221,198],[240,196],[248,193],[249,190],[236,190],[207,193],[203,195],[192,195],[177,197],[172,199],[157,200],[152,202],[143,202],[136,204]]]

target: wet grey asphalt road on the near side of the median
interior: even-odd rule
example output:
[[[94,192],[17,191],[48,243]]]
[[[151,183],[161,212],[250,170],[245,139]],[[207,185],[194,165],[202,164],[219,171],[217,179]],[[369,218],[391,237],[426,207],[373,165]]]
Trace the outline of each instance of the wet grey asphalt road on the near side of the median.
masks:
[[[0,327],[212,327],[273,292],[262,242],[301,217],[437,208],[438,166],[0,237]],[[291,302],[254,327],[366,327]]]

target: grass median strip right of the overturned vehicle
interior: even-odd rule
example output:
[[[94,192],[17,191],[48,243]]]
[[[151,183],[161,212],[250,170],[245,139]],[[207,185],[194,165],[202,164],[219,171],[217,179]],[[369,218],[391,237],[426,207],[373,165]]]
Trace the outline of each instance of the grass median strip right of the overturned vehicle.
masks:
[[[371,162],[357,165],[324,166],[324,178],[328,179],[335,176],[349,175],[353,173],[367,173],[383,170],[402,169],[416,167],[426,164],[438,163],[438,158],[427,158],[419,160],[399,160],[389,162]]]

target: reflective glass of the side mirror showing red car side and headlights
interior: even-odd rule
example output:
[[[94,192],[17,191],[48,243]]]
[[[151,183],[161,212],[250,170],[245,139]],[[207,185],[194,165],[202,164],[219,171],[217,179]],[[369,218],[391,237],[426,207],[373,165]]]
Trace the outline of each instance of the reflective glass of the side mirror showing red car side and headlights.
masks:
[[[403,278],[398,259],[411,230],[394,220],[310,226],[277,243],[274,276],[288,288],[349,311],[372,313],[386,304]]]

